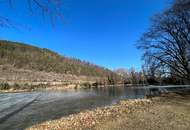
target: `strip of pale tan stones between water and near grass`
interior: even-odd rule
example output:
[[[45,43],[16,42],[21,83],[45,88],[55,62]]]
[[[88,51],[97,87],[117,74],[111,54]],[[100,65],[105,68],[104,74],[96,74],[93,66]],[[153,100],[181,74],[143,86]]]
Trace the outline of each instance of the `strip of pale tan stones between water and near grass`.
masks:
[[[48,121],[28,128],[28,130],[90,129],[105,120],[117,118],[122,116],[123,113],[133,112],[138,106],[144,106],[151,103],[149,99],[121,101],[113,106],[87,110],[59,120]]]

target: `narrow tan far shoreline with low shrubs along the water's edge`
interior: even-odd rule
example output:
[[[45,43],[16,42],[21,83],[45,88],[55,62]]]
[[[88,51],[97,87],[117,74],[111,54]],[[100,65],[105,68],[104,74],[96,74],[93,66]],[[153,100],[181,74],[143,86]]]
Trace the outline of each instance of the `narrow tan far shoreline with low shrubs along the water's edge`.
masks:
[[[19,93],[19,92],[32,92],[32,91],[44,91],[44,90],[48,90],[48,91],[68,91],[68,90],[76,90],[76,89],[89,89],[89,88],[102,88],[102,87],[113,87],[113,86],[117,86],[117,87],[145,87],[145,86],[152,86],[152,85],[147,85],[147,84],[112,84],[112,85],[92,85],[92,83],[83,83],[83,84],[64,84],[64,83],[59,83],[59,84],[52,84],[51,82],[48,83],[43,83],[43,82],[39,82],[38,84],[34,83],[32,84],[30,83],[26,83],[26,84],[7,84],[7,83],[3,83],[8,85],[9,89],[1,89],[0,87],[0,93]],[[0,85],[2,85],[2,83],[0,83]],[[160,85],[154,85],[156,86],[160,86]],[[185,86],[190,86],[190,85],[168,85],[168,86],[181,86],[181,87],[185,87]]]

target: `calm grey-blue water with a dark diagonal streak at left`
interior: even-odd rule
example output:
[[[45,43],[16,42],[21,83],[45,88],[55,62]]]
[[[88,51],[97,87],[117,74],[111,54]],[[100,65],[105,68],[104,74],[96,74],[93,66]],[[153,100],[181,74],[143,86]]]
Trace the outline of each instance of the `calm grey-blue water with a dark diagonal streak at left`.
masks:
[[[111,105],[122,99],[144,98],[145,95],[178,89],[182,88],[106,87],[73,91],[1,93],[0,130],[22,130],[36,123],[58,119],[85,109]]]

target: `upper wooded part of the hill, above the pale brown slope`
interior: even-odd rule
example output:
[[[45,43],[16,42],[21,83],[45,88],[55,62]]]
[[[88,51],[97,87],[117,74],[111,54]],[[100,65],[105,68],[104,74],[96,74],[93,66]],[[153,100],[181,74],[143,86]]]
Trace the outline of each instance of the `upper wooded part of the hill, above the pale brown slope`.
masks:
[[[3,40],[0,41],[0,65],[76,76],[117,77],[108,69],[79,59],[61,56],[45,48]]]

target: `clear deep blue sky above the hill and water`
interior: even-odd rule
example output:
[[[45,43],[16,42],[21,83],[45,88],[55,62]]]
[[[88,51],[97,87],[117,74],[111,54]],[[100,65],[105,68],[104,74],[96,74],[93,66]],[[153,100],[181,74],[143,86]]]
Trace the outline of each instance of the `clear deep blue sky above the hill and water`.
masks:
[[[135,43],[150,26],[152,15],[168,0],[65,0],[64,21],[55,27],[41,15],[26,12],[19,0],[13,8],[0,4],[6,16],[28,29],[0,28],[0,39],[29,43],[61,55],[110,68],[140,68],[141,52]]]

